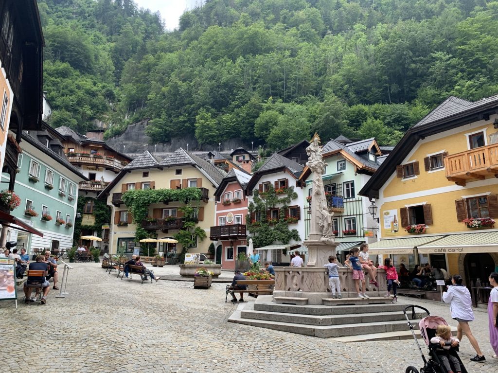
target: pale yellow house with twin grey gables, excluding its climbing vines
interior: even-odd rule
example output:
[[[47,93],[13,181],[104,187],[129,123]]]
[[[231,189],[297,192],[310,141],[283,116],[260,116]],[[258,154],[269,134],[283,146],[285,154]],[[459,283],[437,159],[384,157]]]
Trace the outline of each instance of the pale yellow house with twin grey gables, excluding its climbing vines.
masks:
[[[204,240],[195,239],[195,244],[186,248],[187,252],[207,252],[210,245],[209,230],[215,217],[214,193],[225,176],[225,172],[210,162],[201,159],[180,148],[169,156],[160,158],[146,151],[124,167],[118,176],[108,185],[99,197],[107,198],[112,208],[111,234],[109,252],[116,253],[118,247],[124,247],[127,253],[133,252],[137,224],[124,205],[123,194],[134,189],[185,189],[198,188],[200,201],[193,202],[195,222],[206,232]],[[169,200],[148,206],[146,219],[138,224],[150,232],[151,236],[173,238],[182,230],[185,217],[179,210],[186,201]],[[164,251],[161,245],[159,251]],[[174,244],[168,244],[168,250],[176,251]],[[178,244],[178,252],[182,251]]]

